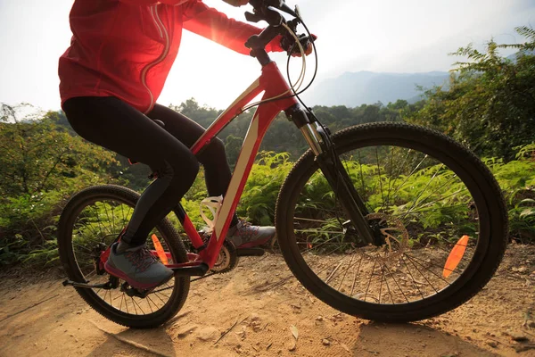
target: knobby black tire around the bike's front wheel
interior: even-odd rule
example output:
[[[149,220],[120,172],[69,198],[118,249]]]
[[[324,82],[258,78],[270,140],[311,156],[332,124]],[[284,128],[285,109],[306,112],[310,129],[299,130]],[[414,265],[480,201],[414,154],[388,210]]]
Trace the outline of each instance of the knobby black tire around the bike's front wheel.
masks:
[[[342,129],[333,135],[333,142],[336,147],[349,146],[350,143],[360,141],[377,141],[381,138],[399,139],[403,142],[412,142],[424,145],[425,147],[432,147],[432,151],[440,151],[440,154],[448,155],[449,159],[454,161],[458,166],[469,173],[478,187],[480,187],[481,194],[484,196],[486,203],[486,212],[490,212],[490,242],[486,246],[484,256],[481,258],[481,264],[477,270],[473,271],[473,275],[464,285],[457,288],[453,294],[445,295],[440,298],[438,302],[433,302],[424,306],[424,308],[414,307],[409,309],[411,304],[399,304],[393,309],[384,309],[384,305],[376,303],[356,302],[353,299],[340,298],[333,291],[328,291],[326,285],[317,284],[314,277],[309,277],[309,272],[303,270],[301,267],[300,256],[296,256],[296,252],[292,250],[291,242],[288,236],[292,229],[292,217],[290,212],[293,207],[292,195],[296,193],[303,179],[303,175],[307,175],[311,167],[314,167],[314,154],[311,150],[301,155],[300,159],[295,163],[288,177],[284,180],[284,184],[279,192],[276,202],[276,229],[279,245],[284,255],[284,260],[288,264],[290,270],[303,286],[306,286],[309,291],[316,295],[317,298],[324,303],[331,305],[334,309],[346,312],[350,315],[358,316],[366,320],[377,320],[384,322],[407,322],[413,320],[423,320],[439,315],[446,311],[455,309],[457,306],[465,303],[476,295],[483,286],[485,286],[490,278],[498,269],[507,245],[508,239],[508,223],[506,204],[503,195],[498,186],[498,182],[490,173],[490,170],[479,160],[472,152],[465,149],[464,146],[457,144],[453,139],[441,134],[433,129],[427,129],[406,123],[369,123]],[[377,144],[381,145],[381,144]],[[437,148],[436,145],[441,145]],[[300,254],[299,251],[297,254]],[[304,263],[306,265],[306,263]],[[308,268],[308,267],[307,267]],[[455,283],[454,283],[455,284]],[[440,292],[441,294],[443,292]],[[339,295],[341,293],[338,293]],[[349,302],[348,299],[352,300]]]

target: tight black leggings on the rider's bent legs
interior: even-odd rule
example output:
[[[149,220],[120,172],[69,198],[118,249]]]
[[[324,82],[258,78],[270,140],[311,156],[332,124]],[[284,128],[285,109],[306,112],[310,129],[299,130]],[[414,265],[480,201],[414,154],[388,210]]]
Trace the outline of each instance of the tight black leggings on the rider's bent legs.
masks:
[[[189,147],[205,130],[184,115],[159,104],[144,115],[111,96],[71,98],[63,110],[80,137],[143,162],[158,173],[158,179],[141,195],[121,237],[130,245],[144,244],[152,228],[177,205],[192,186],[199,162],[204,166],[209,195],[225,195],[231,178],[225,145],[212,140],[195,157]],[[165,127],[153,120],[161,120]],[[235,217],[233,223],[236,221]]]

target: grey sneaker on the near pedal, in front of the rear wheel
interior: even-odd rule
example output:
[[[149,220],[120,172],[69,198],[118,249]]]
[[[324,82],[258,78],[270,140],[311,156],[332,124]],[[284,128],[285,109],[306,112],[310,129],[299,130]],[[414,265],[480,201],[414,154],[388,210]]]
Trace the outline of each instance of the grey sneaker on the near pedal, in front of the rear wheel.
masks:
[[[119,243],[111,245],[110,257],[104,269],[111,275],[126,280],[138,289],[152,289],[169,281],[174,272],[159,262],[146,245],[117,252]]]

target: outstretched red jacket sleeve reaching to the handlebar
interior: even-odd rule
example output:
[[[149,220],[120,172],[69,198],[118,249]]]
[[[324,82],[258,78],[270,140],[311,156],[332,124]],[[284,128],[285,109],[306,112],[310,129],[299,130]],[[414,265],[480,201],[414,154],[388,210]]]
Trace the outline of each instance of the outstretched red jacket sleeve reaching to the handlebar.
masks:
[[[244,46],[252,35],[258,35],[262,29],[245,22],[229,19],[222,12],[208,7],[201,0],[193,0],[184,5],[184,29],[206,37],[222,46],[240,54],[250,54]],[[268,52],[281,52],[280,37],[276,37],[266,48]]]

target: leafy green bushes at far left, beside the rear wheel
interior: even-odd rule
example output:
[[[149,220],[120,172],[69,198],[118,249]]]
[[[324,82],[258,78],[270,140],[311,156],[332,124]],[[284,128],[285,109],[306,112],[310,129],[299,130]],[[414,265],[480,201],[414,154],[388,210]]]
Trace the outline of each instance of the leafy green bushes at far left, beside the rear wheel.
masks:
[[[110,180],[115,154],[58,127],[55,112],[37,120],[19,120],[16,112],[2,106],[0,264],[53,261],[61,203],[82,187]]]

